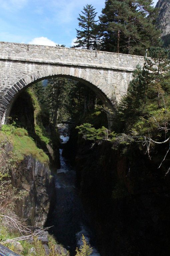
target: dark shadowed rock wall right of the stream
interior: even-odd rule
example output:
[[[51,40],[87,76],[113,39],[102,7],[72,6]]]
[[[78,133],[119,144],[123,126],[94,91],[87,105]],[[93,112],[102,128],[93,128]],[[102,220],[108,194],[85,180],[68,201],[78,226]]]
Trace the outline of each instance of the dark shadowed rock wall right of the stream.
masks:
[[[101,256],[170,254],[169,177],[154,161],[79,139],[75,166]]]

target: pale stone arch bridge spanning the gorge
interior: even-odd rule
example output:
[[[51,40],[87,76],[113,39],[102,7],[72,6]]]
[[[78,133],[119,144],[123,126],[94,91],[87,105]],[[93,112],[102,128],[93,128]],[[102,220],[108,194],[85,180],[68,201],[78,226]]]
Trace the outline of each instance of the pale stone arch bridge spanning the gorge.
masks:
[[[9,115],[24,88],[54,76],[80,81],[113,108],[144,57],[109,52],[0,42],[0,115]]]

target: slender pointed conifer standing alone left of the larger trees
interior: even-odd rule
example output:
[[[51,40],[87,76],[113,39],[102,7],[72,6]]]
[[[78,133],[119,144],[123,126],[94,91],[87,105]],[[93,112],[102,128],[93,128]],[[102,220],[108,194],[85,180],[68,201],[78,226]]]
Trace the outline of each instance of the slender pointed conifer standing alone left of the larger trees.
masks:
[[[95,12],[95,8],[91,4],[87,4],[83,7],[83,11],[81,11],[83,15],[79,14],[79,27],[82,30],[77,31],[77,40],[74,42],[74,48],[84,48],[84,49],[93,49],[97,48],[97,31],[96,31],[96,23],[95,20],[97,12]]]

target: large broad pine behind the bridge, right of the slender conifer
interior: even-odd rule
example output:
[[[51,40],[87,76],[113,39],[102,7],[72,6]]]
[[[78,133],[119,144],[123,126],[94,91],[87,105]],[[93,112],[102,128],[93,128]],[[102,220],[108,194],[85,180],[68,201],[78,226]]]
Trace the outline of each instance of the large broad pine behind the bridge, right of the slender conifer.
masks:
[[[151,0],[106,0],[99,17],[102,50],[144,55],[159,37],[155,15]]]

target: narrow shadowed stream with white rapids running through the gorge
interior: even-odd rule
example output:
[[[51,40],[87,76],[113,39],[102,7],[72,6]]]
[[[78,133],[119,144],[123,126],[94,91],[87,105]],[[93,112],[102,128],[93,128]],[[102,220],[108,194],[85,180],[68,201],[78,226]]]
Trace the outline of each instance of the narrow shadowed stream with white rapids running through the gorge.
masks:
[[[59,126],[60,139],[62,144],[69,140],[67,127]],[[63,147],[64,145],[62,145]],[[75,248],[82,244],[82,234],[93,247],[91,256],[100,256],[95,249],[95,236],[89,227],[89,221],[83,209],[78,189],[76,187],[76,172],[62,156],[60,149],[61,167],[55,174],[56,205],[48,225],[56,240],[61,243],[70,255],[75,255]]]

